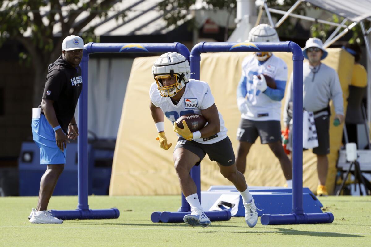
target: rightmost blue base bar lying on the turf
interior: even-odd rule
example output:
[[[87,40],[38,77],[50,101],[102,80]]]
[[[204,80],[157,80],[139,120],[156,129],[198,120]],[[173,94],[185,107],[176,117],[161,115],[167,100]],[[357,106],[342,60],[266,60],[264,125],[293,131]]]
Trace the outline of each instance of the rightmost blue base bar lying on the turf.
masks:
[[[260,219],[262,225],[319,224],[332,223],[332,221],[334,221],[332,213],[263,214]]]

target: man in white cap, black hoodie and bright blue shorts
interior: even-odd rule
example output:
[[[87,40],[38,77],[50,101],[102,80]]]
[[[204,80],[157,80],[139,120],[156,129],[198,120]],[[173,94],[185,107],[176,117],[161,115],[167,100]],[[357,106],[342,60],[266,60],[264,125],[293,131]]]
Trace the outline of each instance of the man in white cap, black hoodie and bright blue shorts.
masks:
[[[33,140],[40,148],[40,164],[47,168],[40,181],[37,208],[32,208],[29,217],[31,223],[63,223],[52,217],[47,205],[66,163],[68,139],[79,135],[74,114],[82,90],[79,64],[83,47],[78,36],[63,40],[62,55],[48,67],[41,105],[33,109]]]

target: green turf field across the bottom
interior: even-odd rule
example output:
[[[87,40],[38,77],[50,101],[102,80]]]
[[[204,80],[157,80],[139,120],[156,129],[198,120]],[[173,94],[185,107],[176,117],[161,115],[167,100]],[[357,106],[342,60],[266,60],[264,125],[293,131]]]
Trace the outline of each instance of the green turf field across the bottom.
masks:
[[[89,197],[92,209],[117,207],[118,219],[31,224],[37,197],[0,197],[0,246],[371,246],[371,197],[320,198],[332,224],[249,228],[244,218],[209,228],[152,223],[153,211],[176,211],[180,196]],[[74,209],[77,197],[52,197],[50,209]]]

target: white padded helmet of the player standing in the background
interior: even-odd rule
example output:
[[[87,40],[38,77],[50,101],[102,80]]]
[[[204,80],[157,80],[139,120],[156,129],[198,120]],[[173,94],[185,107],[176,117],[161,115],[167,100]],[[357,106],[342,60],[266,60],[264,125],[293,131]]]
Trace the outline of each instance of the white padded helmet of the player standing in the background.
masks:
[[[276,29],[267,25],[260,24],[251,29],[249,33],[249,42],[278,42],[279,37]],[[272,56],[271,52],[255,52],[255,57],[259,61],[265,61]]]

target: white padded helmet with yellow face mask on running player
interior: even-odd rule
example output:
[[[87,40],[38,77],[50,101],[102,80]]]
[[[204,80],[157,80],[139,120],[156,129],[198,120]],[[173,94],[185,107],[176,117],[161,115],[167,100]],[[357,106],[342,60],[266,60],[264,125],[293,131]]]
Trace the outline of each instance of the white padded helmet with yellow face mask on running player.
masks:
[[[188,60],[179,53],[162,54],[152,67],[152,74],[162,97],[173,97],[188,83],[191,68]],[[175,83],[164,86],[162,79],[175,78]]]

